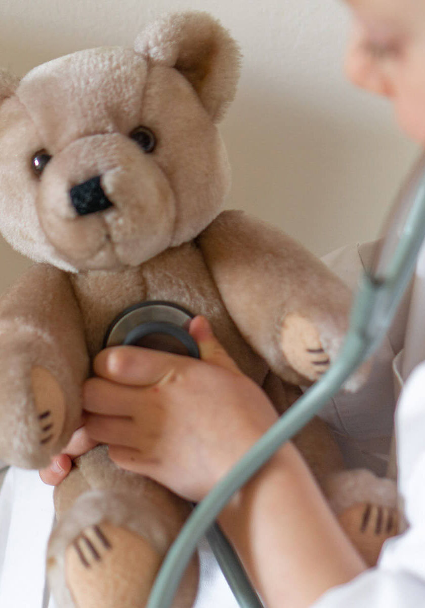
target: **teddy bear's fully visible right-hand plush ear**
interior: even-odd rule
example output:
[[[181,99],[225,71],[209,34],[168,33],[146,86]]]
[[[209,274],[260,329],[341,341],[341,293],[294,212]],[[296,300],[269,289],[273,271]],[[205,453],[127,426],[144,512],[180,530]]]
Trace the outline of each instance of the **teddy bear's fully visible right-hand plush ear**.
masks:
[[[240,51],[208,13],[167,15],[137,37],[135,52],[151,64],[175,67],[191,83],[214,122],[232,102],[240,72]]]

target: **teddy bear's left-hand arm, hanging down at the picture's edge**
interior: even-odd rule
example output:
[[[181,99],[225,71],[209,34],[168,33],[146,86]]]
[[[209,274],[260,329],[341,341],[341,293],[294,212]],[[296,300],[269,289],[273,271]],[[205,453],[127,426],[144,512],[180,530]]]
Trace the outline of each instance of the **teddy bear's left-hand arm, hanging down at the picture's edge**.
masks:
[[[66,273],[35,264],[0,299],[0,458],[40,468],[81,416],[89,359]]]

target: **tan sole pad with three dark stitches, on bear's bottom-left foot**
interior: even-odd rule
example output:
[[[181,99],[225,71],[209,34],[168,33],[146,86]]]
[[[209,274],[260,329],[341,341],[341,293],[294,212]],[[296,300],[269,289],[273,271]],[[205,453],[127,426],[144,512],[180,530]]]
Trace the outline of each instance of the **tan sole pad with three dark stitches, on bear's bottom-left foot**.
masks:
[[[160,563],[143,537],[102,522],[84,528],[67,547],[67,587],[78,608],[142,608]]]

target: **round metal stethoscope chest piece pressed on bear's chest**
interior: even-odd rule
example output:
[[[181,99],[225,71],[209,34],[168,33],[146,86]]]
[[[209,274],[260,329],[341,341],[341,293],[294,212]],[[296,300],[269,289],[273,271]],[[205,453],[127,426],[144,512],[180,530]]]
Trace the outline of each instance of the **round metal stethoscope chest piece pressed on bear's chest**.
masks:
[[[123,311],[109,326],[103,347],[134,345],[199,358],[188,333],[193,315],[171,302],[142,302]]]

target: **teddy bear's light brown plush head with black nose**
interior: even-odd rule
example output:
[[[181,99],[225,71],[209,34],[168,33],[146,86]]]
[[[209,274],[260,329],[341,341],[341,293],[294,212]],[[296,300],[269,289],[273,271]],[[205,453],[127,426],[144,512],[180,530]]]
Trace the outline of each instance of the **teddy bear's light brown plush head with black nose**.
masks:
[[[83,50],[21,81],[0,71],[0,229],[36,261],[134,266],[214,219],[230,185],[216,123],[236,44],[205,13],[167,16],[134,49]]]

